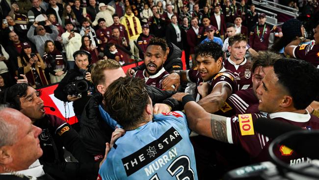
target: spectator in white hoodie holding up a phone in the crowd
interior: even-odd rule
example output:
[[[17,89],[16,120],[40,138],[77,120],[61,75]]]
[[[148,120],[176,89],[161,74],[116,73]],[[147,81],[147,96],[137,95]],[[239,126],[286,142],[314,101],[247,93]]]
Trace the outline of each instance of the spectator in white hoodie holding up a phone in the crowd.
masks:
[[[73,69],[75,66],[73,53],[80,50],[81,35],[74,32],[71,21],[65,22],[66,32],[61,37],[65,47],[66,58],[68,60],[69,68]]]

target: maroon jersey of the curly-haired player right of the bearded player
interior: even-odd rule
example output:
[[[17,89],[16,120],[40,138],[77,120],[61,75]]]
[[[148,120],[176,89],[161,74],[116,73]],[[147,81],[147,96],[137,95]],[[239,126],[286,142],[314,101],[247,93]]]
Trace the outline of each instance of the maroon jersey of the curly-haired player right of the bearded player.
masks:
[[[200,76],[197,68],[187,70],[186,77],[187,77],[188,82],[196,83],[196,87],[198,87],[199,84],[201,82],[203,82],[203,79]],[[226,83],[227,86],[229,87],[229,89],[232,90],[232,93],[235,93],[238,90],[236,78],[235,78],[233,72],[226,70],[224,67],[213,77],[212,80],[209,80],[207,82],[212,87],[212,90],[219,83]],[[196,101],[198,101],[202,98],[202,96],[198,93],[197,88],[195,89],[194,95],[195,95]]]

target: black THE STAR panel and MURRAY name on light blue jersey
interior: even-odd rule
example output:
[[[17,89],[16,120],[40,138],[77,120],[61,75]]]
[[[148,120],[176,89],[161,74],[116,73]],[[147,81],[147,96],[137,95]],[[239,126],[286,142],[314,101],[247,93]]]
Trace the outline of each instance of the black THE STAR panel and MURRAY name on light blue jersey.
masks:
[[[173,147],[182,139],[180,133],[174,127],[171,127],[157,140],[135,151],[133,154],[122,158],[126,175],[130,176],[152,162],[148,167],[144,168],[146,175],[150,176],[154,171],[177,156],[177,150]],[[161,156],[162,154],[164,155]],[[158,157],[160,158],[154,161]]]

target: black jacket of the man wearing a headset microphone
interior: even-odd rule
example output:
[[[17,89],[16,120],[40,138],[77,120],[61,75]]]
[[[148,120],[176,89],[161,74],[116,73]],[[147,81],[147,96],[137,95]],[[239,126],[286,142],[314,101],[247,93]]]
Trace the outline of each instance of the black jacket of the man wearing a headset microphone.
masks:
[[[53,115],[45,115],[34,125],[42,129],[39,135],[43,155],[39,158],[43,170],[54,179],[96,179],[99,164],[88,154],[79,134]],[[79,162],[66,162],[63,147],[70,151]]]

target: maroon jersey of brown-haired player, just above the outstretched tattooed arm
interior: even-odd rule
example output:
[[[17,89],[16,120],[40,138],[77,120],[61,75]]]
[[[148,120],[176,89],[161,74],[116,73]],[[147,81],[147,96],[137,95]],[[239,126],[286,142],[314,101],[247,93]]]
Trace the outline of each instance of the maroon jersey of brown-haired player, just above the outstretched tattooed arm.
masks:
[[[252,89],[239,90],[230,95],[224,106],[214,114],[232,117],[234,115],[245,114],[247,111],[250,113],[259,113],[258,105],[258,99]]]

